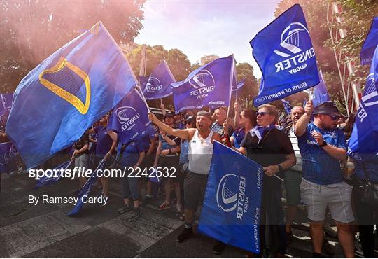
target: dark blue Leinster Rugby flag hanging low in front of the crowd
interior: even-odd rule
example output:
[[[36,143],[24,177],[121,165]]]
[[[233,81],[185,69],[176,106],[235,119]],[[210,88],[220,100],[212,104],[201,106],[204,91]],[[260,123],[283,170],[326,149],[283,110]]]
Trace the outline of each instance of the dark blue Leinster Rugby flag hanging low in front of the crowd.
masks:
[[[260,253],[262,167],[214,142],[198,230],[225,244]]]

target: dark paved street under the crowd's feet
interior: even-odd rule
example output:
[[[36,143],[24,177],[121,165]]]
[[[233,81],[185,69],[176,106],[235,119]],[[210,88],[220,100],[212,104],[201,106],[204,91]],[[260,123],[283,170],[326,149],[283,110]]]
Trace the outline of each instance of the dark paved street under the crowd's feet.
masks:
[[[214,255],[214,239],[195,235],[179,244],[176,237],[183,221],[174,206],[159,211],[159,196],[142,207],[137,221],[130,221],[132,212],[119,214],[123,200],[117,179],[111,179],[111,203],[105,207],[85,204],[77,216],[66,216],[73,204],[28,203],[28,195],[41,197],[74,197],[78,181],[63,179],[54,186],[33,190],[34,179],[27,174],[3,174],[0,193],[0,257],[1,258],[244,258],[239,248],[226,247],[222,255]],[[94,190],[99,193],[99,189]],[[142,190],[144,192],[144,189]],[[304,211],[295,225],[295,239],[286,257],[311,257],[311,240]],[[335,258],[342,258],[337,239],[328,237]],[[378,254],[377,254],[378,255]],[[359,254],[356,254],[359,256]]]

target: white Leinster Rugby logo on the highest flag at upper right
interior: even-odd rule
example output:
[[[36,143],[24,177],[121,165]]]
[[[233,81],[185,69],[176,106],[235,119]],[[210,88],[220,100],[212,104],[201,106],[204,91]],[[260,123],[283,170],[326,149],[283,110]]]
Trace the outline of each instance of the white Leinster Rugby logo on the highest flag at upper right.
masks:
[[[306,69],[308,67],[307,59],[315,57],[307,28],[300,22],[290,23],[283,30],[281,43],[279,48],[274,50],[274,53],[287,58],[274,64],[276,73],[287,70],[290,74],[293,74]]]

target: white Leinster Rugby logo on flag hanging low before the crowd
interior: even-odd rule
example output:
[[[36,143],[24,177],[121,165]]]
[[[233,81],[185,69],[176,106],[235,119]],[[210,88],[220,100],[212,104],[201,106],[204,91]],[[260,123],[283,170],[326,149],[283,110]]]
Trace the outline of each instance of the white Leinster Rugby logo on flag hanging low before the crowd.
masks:
[[[236,174],[226,174],[222,177],[216,190],[216,202],[219,209],[225,212],[236,211],[236,217],[242,221],[244,213],[248,211],[246,196],[246,179]]]

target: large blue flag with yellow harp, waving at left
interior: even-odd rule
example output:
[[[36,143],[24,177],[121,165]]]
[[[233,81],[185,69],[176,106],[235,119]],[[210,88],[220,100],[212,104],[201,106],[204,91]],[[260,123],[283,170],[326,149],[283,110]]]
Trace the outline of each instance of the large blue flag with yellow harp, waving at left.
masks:
[[[73,144],[135,85],[123,52],[98,22],[22,79],[6,133],[35,167]]]

